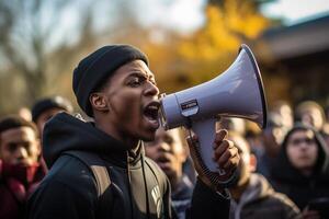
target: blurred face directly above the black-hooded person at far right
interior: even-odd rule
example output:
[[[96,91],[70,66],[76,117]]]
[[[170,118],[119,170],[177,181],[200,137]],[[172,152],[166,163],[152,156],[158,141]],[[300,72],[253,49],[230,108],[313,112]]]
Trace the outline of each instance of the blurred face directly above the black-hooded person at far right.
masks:
[[[302,123],[315,127],[320,130],[324,125],[324,118],[321,112],[316,107],[309,107],[302,112]]]

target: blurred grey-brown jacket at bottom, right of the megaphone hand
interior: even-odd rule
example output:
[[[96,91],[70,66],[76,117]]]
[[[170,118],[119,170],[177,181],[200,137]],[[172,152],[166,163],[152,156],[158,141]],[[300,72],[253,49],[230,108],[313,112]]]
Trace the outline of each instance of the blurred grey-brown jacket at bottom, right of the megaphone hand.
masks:
[[[252,173],[239,203],[231,200],[230,219],[297,219],[302,214],[284,194],[276,193],[262,175]]]

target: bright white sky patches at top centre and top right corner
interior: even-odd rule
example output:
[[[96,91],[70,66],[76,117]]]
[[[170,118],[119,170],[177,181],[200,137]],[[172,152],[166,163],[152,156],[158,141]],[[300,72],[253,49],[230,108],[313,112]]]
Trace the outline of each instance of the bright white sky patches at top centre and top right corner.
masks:
[[[141,22],[146,25],[162,25],[190,32],[204,22],[203,8],[206,0],[139,0]],[[329,14],[329,0],[276,0],[261,8],[269,18],[282,18],[285,25],[292,25],[319,14]]]

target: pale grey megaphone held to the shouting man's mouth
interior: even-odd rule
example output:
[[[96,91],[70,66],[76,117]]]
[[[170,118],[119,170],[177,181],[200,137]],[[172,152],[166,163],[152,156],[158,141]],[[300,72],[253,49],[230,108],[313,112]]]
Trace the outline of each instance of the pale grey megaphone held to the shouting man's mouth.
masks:
[[[161,94],[159,118],[164,129],[184,126],[198,137],[200,153],[212,172],[224,175],[213,161],[215,125],[219,117],[266,122],[266,101],[262,78],[250,48],[242,44],[234,64],[220,76],[169,95]]]

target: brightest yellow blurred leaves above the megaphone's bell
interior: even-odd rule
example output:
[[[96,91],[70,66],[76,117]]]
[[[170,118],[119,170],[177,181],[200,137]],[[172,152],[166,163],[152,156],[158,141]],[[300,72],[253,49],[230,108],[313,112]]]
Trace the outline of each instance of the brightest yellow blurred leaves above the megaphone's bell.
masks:
[[[254,39],[269,25],[252,1],[246,0],[226,0],[223,7],[209,4],[205,15],[204,27],[179,47],[184,58],[213,61],[237,53],[242,42]]]

